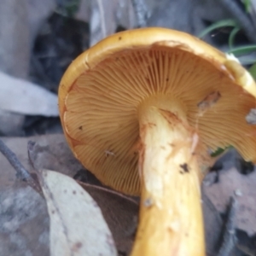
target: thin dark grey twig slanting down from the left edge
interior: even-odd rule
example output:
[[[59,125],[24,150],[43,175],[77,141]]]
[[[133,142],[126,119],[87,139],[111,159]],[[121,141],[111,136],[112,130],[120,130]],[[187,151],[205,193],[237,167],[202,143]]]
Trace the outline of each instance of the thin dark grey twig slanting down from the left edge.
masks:
[[[11,166],[15,168],[16,177],[28,183],[28,185],[30,185],[32,189],[35,189],[40,195],[42,195],[42,189],[38,184],[38,181],[34,177],[32,177],[32,174],[30,172],[26,171],[26,168],[21,165],[15,153],[11,151],[5,145],[5,143],[3,143],[1,139],[0,139],[0,152],[5,156],[7,160],[9,160],[9,163],[11,164]]]

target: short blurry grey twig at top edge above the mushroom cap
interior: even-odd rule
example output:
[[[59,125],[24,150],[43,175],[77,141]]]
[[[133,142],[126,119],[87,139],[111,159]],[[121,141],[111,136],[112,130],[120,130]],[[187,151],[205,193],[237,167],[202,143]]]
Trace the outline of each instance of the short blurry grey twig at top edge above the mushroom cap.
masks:
[[[131,0],[132,6],[134,8],[135,14],[137,15],[137,26],[145,27],[147,26],[147,21],[149,17],[149,12],[147,5],[144,0]]]

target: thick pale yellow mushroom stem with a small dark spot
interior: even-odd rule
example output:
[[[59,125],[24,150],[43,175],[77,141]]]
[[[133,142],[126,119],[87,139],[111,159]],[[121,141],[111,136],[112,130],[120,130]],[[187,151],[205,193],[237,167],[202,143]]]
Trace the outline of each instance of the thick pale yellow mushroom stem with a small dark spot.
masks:
[[[205,255],[201,175],[185,111],[170,99],[150,100],[139,121],[142,196],[131,255]]]

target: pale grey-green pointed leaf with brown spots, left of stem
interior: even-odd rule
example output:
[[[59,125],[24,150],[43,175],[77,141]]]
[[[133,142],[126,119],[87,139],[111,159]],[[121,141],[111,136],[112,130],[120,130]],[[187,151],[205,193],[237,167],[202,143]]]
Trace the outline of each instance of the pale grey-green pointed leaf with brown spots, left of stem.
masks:
[[[40,174],[50,218],[50,255],[117,255],[96,201],[71,177],[49,170]]]

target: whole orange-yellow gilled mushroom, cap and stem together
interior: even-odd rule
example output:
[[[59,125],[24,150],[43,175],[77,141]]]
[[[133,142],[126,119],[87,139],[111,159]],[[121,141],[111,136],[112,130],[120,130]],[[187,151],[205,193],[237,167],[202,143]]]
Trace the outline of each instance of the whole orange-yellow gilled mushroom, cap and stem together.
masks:
[[[131,255],[205,255],[201,180],[217,148],[256,161],[255,97],[235,58],[165,28],[116,33],[68,67],[59,108],[73,154],[102,183],[141,195]]]

